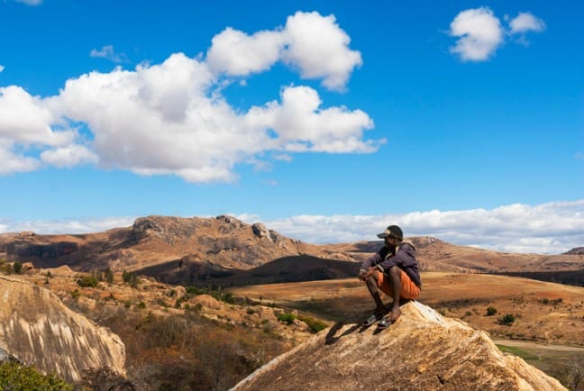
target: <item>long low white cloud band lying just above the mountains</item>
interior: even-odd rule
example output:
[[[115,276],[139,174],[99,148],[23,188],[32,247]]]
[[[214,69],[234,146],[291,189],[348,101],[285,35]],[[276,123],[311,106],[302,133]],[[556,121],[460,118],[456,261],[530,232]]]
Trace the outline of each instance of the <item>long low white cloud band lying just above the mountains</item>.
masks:
[[[431,236],[453,244],[489,250],[557,254],[584,246],[584,199],[542,205],[514,204],[494,209],[431,210],[408,214],[306,214],[274,220],[262,220],[256,214],[233,215],[246,223],[264,223],[270,230],[309,243],[377,241],[378,232],[396,223],[403,228],[406,236]],[[134,219],[111,217],[55,222],[0,220],[0,232],[102,232],[130,226]]]

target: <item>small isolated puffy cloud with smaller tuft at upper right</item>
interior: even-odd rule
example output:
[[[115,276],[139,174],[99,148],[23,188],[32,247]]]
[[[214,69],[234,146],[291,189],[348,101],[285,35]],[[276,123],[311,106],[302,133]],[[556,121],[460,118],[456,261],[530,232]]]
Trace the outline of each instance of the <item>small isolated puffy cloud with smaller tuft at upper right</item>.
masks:
[[[463,61],[485,61],[492,58],[505,42],[506,35],[519,35],[517,42],[528,45],[527,32],[543,32],[545,23],[531,13],[519,13],[513,19],[506,16],[505,29],[488,7],[462,11],[450,26],[450,35],[458,38],[451,47],[452,54]]]

